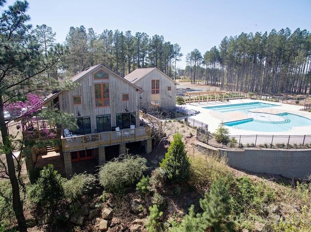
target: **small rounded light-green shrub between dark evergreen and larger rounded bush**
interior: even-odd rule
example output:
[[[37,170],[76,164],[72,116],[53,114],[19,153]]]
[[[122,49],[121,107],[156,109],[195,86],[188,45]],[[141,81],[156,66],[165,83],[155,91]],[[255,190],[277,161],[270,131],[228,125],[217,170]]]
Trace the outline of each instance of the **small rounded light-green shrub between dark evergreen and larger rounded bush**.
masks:
[[[79,200],[87,196],[93,189],[96,178],[92,174],[75,174],[72,178],[63,183],[64,195],[71,201]]]

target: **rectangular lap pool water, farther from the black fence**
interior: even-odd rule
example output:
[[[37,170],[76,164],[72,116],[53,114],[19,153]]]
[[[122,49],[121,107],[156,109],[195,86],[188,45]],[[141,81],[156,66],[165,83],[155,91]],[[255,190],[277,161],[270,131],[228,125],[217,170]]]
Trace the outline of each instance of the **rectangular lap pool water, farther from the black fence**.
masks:
[[[277,107],[278,105],[261,103],[261,102],[250,102],[250,103],[242,103],[242,104],[232,104],[225,106],[213,106],[213,107],[204,107],[206,109],[212,109],[218,112],[228,113],[228,112],[236,112],[243,111],[248,109],[258,109],[258,108],[267,108],[267,107]]]

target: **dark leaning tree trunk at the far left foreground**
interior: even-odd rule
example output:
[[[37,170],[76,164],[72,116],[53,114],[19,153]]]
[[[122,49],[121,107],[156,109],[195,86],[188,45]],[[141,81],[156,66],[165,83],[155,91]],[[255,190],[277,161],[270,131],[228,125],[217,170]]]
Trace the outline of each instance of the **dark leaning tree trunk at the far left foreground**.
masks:
[[[4,150],[7,162],[7,169],[9,172],[9,177],[12,185],[12,193],[13,193],[13,209],[15,216],[17,218],[18,228],[20,232],[27,232],[26,228],[26,220],[23,212],[23,205],[20,201],[19,195],[19,186],[17,182],[17,177],[15,173],[14,167],[14,160],[12,154],[12,145],[11,141],[9,140],[8,130],[4,121],[3,116],[3,102],[2,96],[0,96],[0,130],[3,144],[5,145],[6,149]]]

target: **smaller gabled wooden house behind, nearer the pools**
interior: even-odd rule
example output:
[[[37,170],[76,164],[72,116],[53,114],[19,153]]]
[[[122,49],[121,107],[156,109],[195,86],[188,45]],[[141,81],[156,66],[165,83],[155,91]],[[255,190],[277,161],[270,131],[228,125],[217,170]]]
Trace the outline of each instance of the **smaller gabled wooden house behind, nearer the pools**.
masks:
[[[168,110],[176,108],[176,85],[172,78],[157,68],[138,68],[124,79],[142,89],[139,97],[140,109],[161,107]]]

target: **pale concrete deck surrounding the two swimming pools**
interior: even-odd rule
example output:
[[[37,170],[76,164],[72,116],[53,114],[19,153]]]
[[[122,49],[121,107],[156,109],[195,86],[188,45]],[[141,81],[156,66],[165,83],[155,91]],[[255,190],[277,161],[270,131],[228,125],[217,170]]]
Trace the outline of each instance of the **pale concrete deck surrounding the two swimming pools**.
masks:
[[[228,102],[204,102],[204,103],[191,103],[183,105],[188,109],[193,109],[196,111],[200,111],[199,114],[191,116],[190,118],[200,121],[202,123],[208,124],[208,131],[214,133],[218,125],[222,122],[231,122],[236,120],[242,120],[247,118],[252,118],[250,114],[245,115],[241,112],[229,112],[229,113],[222,113],[210,109],[206,109],[204,107],[209,106],[222,106],[222,105],[231,105],[231,104],[242,104],[242,103],[251,103],[251,102],[261,102],[267,104],[274,104],[275,107],[268,107],[268,108],[259,108],[259,109],[250,109],[253,112],[264,112],[269,114],[277,114],[277,113],[292,113],[299,116],[303,116],[306,118],[311,119],[311,112],[302,111],[300,109],[303,106],[296,106],[290,105],[285,103],[279,102],[269,102],[269,101],[262,101],[262,100],[251,100],[251,99],[237,99],[237,100],[230,100]],[[265,125],[268,126],[268,125]],[[260,131],[252,131],[252,130],[242,130],[237,129],[234,127],[227,126],[226,128],[229,129],[230,135],[311,135],[311,125],[309,126],[296,126],[288,131],[282,132],[260,132]]]

